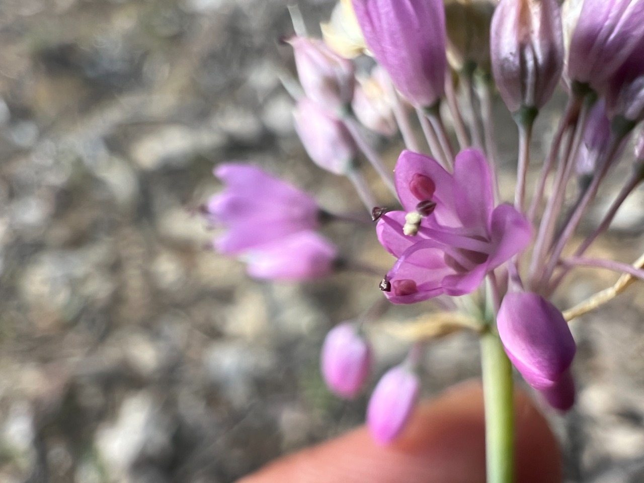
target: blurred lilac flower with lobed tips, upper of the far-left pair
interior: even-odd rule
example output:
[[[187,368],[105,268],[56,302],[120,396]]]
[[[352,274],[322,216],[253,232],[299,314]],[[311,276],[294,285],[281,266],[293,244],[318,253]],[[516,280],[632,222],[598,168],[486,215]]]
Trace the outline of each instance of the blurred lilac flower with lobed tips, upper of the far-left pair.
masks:
[[[249,164],[214,169],[226,188],[210,198],[204,214],[226,231],[214,240],[223,254],[240,254],[291,234],[313,230],[319,209],[308,194]]]

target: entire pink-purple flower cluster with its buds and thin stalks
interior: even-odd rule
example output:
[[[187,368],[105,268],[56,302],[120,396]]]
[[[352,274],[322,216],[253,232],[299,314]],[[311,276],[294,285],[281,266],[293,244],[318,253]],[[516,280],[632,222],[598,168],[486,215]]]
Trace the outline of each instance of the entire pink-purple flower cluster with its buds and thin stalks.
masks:
[[[562,312],[550,301],[555,290],[582,265],[644,278],[642,263],[584,257],[644,180],[644,137],[631,156],[632,176],[609,211],[573,245],[603,180],[644,119],[644,0],[585,0],[569,35],[556,0],[475,4],[452,2],[446,15],[442,0],[343,0],[323,26],[326,42],[303,32],[289,41],[301,85],[296,131],[317,166],[353,183],[377,220],[379,242],[395,258],[379,288],[394,304],[437,298],[447,310],[424,319],[408,357],[375,386],[367,420],[380,442],[394,439],[412,413],[427,340],[455,330],[499,341],[502,359],[551,406],[567,410],[574,404],[576,350],[568,322],[597,302]],[[462,19],[462,28],[454,28],[454,19]],[[565,38],[571,39],[567,52]],[[375,66],[357,68],[363,64],[350,57],[361,53]],[[533,125],[562,79],[569,101],[529,196]],[[491,117],[497,91],[519,134],[509,203],[500,197],[497,173]],[[395,176],[365,129],[394,140],[400,133],[405,149]],[[376,201],[362,158],[392,199]],[[332,272],[337,250],[317,234],[322,212],[310,196],[251,166],[223,164],[215,174],[227,190],[204,213],[227,228],[214,242],[218,251],[242,256],[249,273],[261,278]],[[356,397],[368,383],[375,312],[328,333],[322,372],[341,397]]]

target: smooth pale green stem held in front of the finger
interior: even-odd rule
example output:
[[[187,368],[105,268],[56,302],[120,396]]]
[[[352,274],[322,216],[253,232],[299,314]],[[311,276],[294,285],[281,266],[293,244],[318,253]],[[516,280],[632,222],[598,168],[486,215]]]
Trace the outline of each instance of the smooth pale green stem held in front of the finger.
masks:
[[[512,365],[498,335],[482,334],[481,365],[486,424],[488,483],[513,483],[515,413]]]

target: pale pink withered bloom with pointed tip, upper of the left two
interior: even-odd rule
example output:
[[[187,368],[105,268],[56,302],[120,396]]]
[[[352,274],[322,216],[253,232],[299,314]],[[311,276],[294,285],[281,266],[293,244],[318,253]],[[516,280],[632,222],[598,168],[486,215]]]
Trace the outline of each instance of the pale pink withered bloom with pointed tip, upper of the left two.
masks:
[[[354,64],[319,39],[293,37],[289,43],[307,97],[336,115],[344,113],[354,95]]]

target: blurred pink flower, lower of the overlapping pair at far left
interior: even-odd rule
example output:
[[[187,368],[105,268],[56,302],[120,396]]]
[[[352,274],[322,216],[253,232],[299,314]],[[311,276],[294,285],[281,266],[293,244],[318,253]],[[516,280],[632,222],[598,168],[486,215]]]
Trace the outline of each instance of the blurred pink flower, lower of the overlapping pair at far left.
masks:
[[[242,256],[255,278],[308,280],[331,274],[337,259],[333,243],[314,231],[302,231],[255,247]]]

